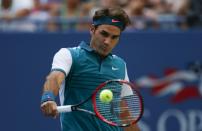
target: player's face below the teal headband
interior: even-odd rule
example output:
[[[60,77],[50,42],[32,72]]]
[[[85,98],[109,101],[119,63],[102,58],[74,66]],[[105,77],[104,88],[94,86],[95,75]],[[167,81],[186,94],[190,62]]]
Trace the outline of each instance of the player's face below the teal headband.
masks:
[[[101,56],[107,56],[117,45],[121,30],[113,25],[91,27],[90,46]]]

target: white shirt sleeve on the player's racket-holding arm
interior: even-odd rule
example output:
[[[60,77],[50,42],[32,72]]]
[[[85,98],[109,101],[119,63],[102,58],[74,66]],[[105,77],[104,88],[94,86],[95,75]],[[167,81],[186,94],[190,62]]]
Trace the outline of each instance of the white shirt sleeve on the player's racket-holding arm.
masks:
[[[67,76],[72,66],[72,55],[67,48],[61,48],[54,56],[51,70],[59,70]]]

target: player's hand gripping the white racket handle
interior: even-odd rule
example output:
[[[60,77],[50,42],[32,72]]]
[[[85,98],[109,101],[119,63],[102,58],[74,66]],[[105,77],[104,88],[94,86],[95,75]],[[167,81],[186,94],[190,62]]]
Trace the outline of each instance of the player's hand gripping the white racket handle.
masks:
[[[56,118],[58,116],[57,104],[55,101],[46,101],[41,104],[41,110],[45,116]]]

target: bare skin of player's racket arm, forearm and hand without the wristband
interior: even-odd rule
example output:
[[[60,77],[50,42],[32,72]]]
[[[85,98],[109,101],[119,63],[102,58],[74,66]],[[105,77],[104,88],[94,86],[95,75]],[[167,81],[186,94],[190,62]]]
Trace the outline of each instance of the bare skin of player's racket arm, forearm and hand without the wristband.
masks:
[[[43,93],[44,92],[52,92],[54,96],[57,96],[59,93],[60,85],[65,79],[64,73],[60,71],[51,72],[44,83]],[[58,115],[57,112],[57,104],[55,101],[48,100],[41,103],[41,110],[46,116],[56,117]]]

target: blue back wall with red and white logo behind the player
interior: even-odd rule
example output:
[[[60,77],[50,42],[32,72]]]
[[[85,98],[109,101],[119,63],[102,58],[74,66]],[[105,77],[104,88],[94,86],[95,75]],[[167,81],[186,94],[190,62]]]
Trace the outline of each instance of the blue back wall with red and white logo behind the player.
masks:
[[[128,32],[121,36],[114,53],[127,61],[131,81],[140,81],[145,101],[144,116],[139,123],[142,131],[202,131],[200,75],[192,80],[169,80],[170,85],[181,84],[177,89],[166,87],[168,83],[160,87],[141,83],[141,78],[158,82],[169,73],[189,71],[190,62],[202,61],[201,36],[202,32],[194,31]],[[0,34],[1,130],[59,130],[59,119],[46,118],[40,112],[42,86],[54,53],[61,47],[77,46],[81,40],[89,39],[88,33]],[[186,90],[183,94],[184,89],[190,89],[192,96]],[[182,95],[178,94],[180,91]],[[180,100],[172,101],[173,97]]]

